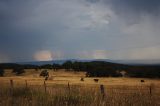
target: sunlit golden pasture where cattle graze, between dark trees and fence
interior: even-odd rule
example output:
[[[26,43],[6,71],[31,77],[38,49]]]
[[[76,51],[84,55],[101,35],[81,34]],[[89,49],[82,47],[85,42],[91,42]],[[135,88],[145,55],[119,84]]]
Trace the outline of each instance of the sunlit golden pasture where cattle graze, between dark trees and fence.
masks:
[[[44,78],[39,77],[41,70],[27,69],[21,76],[16,76],[12,73],[12,70],[5,70],[5,77],[0,77],[0,82],[9,82],[13,79],[15,82],[24,83],[25,80],[31,84],[43,84]],[[144,79],[144,78],[98,78],[99,82],[95,83],[94,78],[85,78],[84,72],[66,72],[65,70],[53,71],[49,70],[48,84],[104,84],[104,85],[150,85],[154,83],[160,85],[159,79]],[[84,82],[80,81],[80,78],[84,77]],[[141,83],[140,80],[144,79],[145,83]]]

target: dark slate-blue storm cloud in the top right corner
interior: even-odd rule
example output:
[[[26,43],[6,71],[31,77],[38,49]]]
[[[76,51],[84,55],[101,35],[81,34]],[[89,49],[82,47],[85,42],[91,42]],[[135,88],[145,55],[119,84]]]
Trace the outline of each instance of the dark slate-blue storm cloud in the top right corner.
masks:
[[[128,18],[140,18],[150,15],[153,18],[160,16],[160,0],[107,0],[105,1],[116,14]]]

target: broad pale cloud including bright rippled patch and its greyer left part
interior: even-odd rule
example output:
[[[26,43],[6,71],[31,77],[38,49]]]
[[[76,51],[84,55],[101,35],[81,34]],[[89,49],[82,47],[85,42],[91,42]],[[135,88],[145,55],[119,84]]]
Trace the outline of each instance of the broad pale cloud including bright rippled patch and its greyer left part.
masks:
[[[39,28],[58,23],[71,29],[95,28],[107,25],[113,13],[106,6],[87,4],[85,0],[47,0],[32,14],[17,25]]]

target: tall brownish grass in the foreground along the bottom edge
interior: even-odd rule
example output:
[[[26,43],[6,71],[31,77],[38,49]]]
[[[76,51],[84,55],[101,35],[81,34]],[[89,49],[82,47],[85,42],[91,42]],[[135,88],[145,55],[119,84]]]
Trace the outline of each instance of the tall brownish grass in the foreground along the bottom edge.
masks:
[[[125,87],[125,89],[127,89]],[[130,88],[128,88],[130,89]],[[158,106],[159,95],[141,88],[137,90],[105,89],[102,97],[98,87],[56,85],[0,88],[0,106]]]

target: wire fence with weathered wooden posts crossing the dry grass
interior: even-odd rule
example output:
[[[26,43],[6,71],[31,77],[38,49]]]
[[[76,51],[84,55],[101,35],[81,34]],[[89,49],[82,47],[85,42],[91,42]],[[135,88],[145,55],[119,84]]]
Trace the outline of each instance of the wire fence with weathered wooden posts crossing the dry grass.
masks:
[[[54,84],[49,84],[49,83],[47,83],[47,81],[44,81],[43,84],[41,84],[41,85],[31,85],[29,83],[29,81],[24,80],[24,85],[25,85],[26,88],[31,87],[31,86],[33,86],[35,88],[38,87],[38,86],[41,86],[42,88],[44,88],[44,92],[47,92],[47,89],[49,89],[49,88],[52,89],[54,87]],[[58,84],[55,84],[55,86],[57,86],[57,85]],[[62,85],[63,86],[61,86],[61,87],[66,87],[69,92],[71,92],[71,90],[72,90],[71,88],[73,86],[78,86],[79,88],[86,87],[84,85],[73,85],[69,82],[66,83],[66,84],[62,84]],[[16,87],[16,81],[10,80],[11,90],[14,87]],[[112,93],[119,93],[119,94],[131,94],[131,93],[141,93],[141,92],[143,92],[143,93],[149,94],[150,96],[160,95],[160,87],[156,87],[154,84],[151,84],[151,85],[148,85],[148,86],[145,86],[145,85],[143,85],[143,86],[106,86],[106,85],[103,85],[103,84],[101,84],[101,85],[96,84],[96,85],[87,85],[87,88],[97,89],[100,92],[102,98],[105,98],[106,95],[109,95],[111,92]]]

